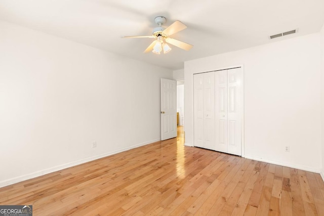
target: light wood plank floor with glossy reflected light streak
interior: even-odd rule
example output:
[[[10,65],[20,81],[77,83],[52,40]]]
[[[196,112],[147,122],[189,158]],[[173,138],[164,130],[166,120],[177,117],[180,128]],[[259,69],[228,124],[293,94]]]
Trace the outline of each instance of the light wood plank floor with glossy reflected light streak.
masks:
[[[324,215],[323,197],[319,174],[185,147],[182,133],[0,188],[0,205],[33,215]]]

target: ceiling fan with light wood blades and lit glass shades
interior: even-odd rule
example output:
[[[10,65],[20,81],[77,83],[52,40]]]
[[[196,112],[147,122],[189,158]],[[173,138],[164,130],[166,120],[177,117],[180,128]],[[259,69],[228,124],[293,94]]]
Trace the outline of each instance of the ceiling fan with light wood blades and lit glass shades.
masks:
[[[180,40],[169,37],[170,35],[187,28],[185,24],[177,20],[174,23],[172,23],[169,27],[164,29],[162,25],[167,22],[167,19],[165,17],[155,17],[154,21],[158,25],[158,27],[153,29],[152,35],[124,36],[124,38],[155,38],[155,40],[150,44],[150,46],[146,48],[144,53],[148,53],[150,51],[152,51],[155,54],[160,54],[161,51],[163,51],[163,53],[168,53],[171,51],[171,48],[169,47],[167,42],[186,51],[190,50],[193,47],[192,45],[187,44],[186,42],[182,42]]]

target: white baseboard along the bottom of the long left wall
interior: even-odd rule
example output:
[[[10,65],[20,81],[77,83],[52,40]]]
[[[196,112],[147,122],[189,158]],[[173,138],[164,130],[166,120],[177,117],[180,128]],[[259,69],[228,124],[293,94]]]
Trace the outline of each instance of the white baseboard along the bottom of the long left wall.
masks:
[[[90,162],[90,161],[93,161],[93,160],[97,160],[99,158],[103,158],[103,157],[107,157],[107,156],[110,156],[110,155],[113,155],[113,154],[117,154],[119,152],[127,151],[127,150],[134,149],[134,148],[137,148],[137,147],[140,147],[140,146],[145,146],[145,145],[148,145],[148,144],[151,144],[151,143],[155,143],[157,141],[160,141],[160,139],[151,140],[151,141],[148,141],[148,142],[140,143],[140,144],[137,144],[137,145],[133,145],[133,146],[129,146],[129,147],[126,147],[126,148],[118,149],[118,150],[115,150],[115,151],[106,152],[104,154],[96,155],[96,156],[93,156],[93,157],[88,157],[88,158],[72,161],[72,162],[69,162],[69,163],[65,163],[65,164],[62,164],[62,165],[54,166],[54,167],[51,167],[51,168],[35,171],[35,172],[32,172],[31,174],[27,174],[27,175],[15,177],[15,178],[12,178],[12,179],[4,180],[4,181],[0,182],[0,188],[8,186],[8,185],[15,184],[15,183],[18,183],[18,182],[33,179],[33,178],[36,178],[36,177],[39,177],[39,176],[43,176],[43,175],[46,175],[46,174],[50,174],[51,172],[59,171],[59,170],[69,168],[69,167],[72,167],[72,166],[76,166],[76,165],[79,165],[79,164],[82,164],[82,163],[87,163],[87,162]]]

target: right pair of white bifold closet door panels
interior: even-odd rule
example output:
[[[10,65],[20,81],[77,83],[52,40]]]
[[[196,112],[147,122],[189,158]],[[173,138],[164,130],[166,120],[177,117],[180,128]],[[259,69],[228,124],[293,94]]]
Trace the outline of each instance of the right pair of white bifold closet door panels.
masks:
[[[241,155],[241,68],[215,72],[216,151]]]

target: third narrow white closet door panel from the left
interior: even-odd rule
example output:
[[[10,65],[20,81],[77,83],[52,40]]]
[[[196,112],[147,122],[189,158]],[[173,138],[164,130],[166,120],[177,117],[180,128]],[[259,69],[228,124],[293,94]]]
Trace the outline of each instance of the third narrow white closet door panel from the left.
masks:
[[[227,72],[215,72],[215,150],[227,152]]]

